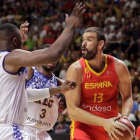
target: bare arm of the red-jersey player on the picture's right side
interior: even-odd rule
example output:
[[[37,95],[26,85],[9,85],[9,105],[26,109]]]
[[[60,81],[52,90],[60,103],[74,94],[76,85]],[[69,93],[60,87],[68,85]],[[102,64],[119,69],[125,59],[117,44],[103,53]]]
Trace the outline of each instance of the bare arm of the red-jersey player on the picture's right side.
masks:
[[[115,68],[119,78],[118,90],[122,96],[122,115],[129,115],[133,106],[130,75],[126,65],[115,59]]]

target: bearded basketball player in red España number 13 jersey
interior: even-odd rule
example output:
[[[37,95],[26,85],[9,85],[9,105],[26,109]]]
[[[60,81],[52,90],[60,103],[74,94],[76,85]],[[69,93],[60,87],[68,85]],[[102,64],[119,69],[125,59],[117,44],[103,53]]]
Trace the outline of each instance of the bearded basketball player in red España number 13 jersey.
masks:
[[[124,130],[115,124],[118,116],[117,97],[122,96],[122,115],[128,116],[133,100],[129,72],[125,64],[103,53],[105,34],[102,29],[85,30],[82,56],[73,63],[66,79],[77,82],[77,87],[66,96],[72,119],[71,140],[119,140]],[[125,131],[125,130],[124,130]]]

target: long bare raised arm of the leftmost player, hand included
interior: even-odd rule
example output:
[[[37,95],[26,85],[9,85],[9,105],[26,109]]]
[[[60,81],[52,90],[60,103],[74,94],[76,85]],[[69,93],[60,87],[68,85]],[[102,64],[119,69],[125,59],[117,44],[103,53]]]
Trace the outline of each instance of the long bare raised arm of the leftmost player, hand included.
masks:
[[[74,30],[81,23],[84,12],[85,5],[76,4],[71,16],[69,18],[68,15],[66,16],[66,28],[48,49],[33,52],[18,49],[13,50],[5,58],[5,69],[8,72],[17,72],[20,67],[39,66],[57,61],[69,46]]]

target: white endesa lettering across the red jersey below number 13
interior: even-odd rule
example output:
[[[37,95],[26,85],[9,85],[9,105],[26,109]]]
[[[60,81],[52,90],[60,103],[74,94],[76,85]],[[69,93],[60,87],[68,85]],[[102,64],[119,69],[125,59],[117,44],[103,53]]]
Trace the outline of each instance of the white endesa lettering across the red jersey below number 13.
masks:
[[[82,104],[81,107],[83,109],[89,109],[89,111],[96,111],[96,112],[106,112],[106,111],[111,111],[111,106],[90,106],[90,105],[84,105]]]

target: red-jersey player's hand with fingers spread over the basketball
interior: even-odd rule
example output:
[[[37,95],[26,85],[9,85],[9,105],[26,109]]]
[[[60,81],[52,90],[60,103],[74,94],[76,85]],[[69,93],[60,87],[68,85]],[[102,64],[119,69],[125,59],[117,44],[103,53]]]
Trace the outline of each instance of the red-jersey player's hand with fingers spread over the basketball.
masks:
[[[103,127],[108,132],[108,135],[109,135],[111,140],[119,140],[119,138],[116,136],[116,134],[123,136],[123,133],[121,133],[119,131],[119,129],[123,130],[123,131],[126,130],[125,128],[123,128],[115,123],[115,120],[117,120],[119,117],[106,119],[104,124],[103,124]]]

